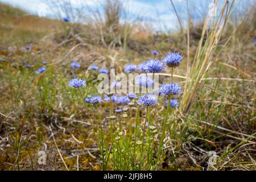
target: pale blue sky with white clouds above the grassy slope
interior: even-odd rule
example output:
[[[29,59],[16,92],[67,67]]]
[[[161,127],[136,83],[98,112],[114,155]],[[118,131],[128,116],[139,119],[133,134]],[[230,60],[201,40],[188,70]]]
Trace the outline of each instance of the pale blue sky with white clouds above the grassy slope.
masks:
[[[104,0],[62,0],[58,2],[71,2],[74,9],[81,9],[86,6],[82,12],[87,13],[86,16],[91,16],[92,11],[102,12],[102,3]],[[175,15],[175,11],[171,5],[170,0],[121,0],[123,2],[123,9],[125,14],[122,20],[143,20],[150,24],[155,31],[177,30],[179,22]],[[188,0],[189,15],[194,20],[203,20],[203,17],[209,13],[212,8],[210,3],[213,0]],[[217,1],[217,0],[216,0]],[[239,2],[237,8],[240,10],[246,9],[246,5],[254,0],[235,0]],[[7,3],[14,7],[19,7],[28,13],[46,16],[48,18],[57,18],[57,7],[53,6],[51,0],[0,0],[0,2]],[[56,1],[55,1],[56,2]],[[177,13],[180,19],[185,24],[187,20],[187,3],[186,0],[173,0]],[[219,0],[219,6],[223,5],[224,0]],[[62,12],[60,16],[71,16]],[[80,16],[70,17],[74,22],[79,22]]]

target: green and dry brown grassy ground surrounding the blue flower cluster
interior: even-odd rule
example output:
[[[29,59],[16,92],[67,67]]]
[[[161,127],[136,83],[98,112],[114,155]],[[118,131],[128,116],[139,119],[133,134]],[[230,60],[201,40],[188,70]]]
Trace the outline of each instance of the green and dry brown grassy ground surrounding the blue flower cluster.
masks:
[[[149,35],[146,38],[137,34],[134,35],[134,40],[125,40],[126,46],[118,44],[106,46],[99,42],[101,37],[97,34],[92,37],[92,40],[98,42],[86,42],[88,39],[86,35],[82,36],[83,41],[79,42],[73,39],[74,36],[71,34],[68,36],[70,41],[64,45],[60,44],[64,41],[63,32],[59,31],[61,28],[44,27],[46,22],[59,25],[59,21],[30,16],[30,20],[23,20],[24,22],[17,24],[15,19],[24,15],[24,12],[6,5],[0,5],[0,9],[5,16],[0,23],[6,25],[0,27],[2,33],[0,39],[3,42],[0,46],[0,169],[65,170],[68,168],[77,170],[77,163],[80,170],[102,169],[101,150],[98,150],[100,146],[96,141],[100,136],[97,136],[90,126],[90,119],[96,125],[99,124],[96,107],[86,104],[84,108],[79,92],[68,86],[69,79],[77,75],[86,78],[87,81],[86,87],[82,89],[84,97],[96,95],[97,73],[86,72],[90,64],[115,68],[117,72],[122,72],[124,64],[141,63],[144,59],[151,57],[150,51],[153,49],[160,52],[159,57],[176,49],[183,53],[185,58],[180,67],[174,70],[174,74],[186,75],[187,45],[180,42],[180,34],[154,35],[146,32],[145,34]],[[181,96],[184,107],[170,111],[166,134],[171,138],[165,140],[168,147],[161,155],[161,162],[156,169],[255,170],[255,152],[253,151],[255,146],[255,68],[253,65],[256,55],[253,43],[255,30],[251,28],[253,23],[250,22],[253,19],[250,18],[249,16],[242,22],[225,47],[223,47],[225,41],[219,42],[216,50],[220,53],[213,52],[212,56],[216,61],[210,65],[207,72],[202,72],[203,76],[192,67],[191,78],[200,74],[199,77],[202,80],[197,80],[197,89],[193,91],[193,97],[189,90]],[[35,22],[40,27],[33,29],[32,25]],[[234,31],[230,24],[226,26],[228,28],[224,28],[220,40],[227,40]],[[75,25],[71,27],[76,30]],[[86,28],[88,27],[84,26],[77,30],[84,31]],[[114,40],[115,36],[123,33],[123,30],[119,31],[121,32],[108,34],[110,40]],[[7,34],[10,36],[6,36]],[[162,41],[154,42],[157,36],[160,36]],[[172,42],[167,38],[172,38]],[[196,53],[200,40],[193,36],[190,39],[189,56],[203,59],[204,55]],[[145,40],[146,43],[141,40]],[[24,47],[28,44],[32,46],[30,52],[24,51]],[[79,44],[80,46],[77,46]],[[9,51],[9,46],[14,50]],[[207,44],[202,46],[205,46],[205,49],[208,48]],[[31,52],[35,52],[36,55],[31,55]],[[12,54],[9,55],[9,53]],[[197,68],[200,68],[202,63],[200,59],[195,59],[193,62]],[[42,62],[45,60],[48,61],[47,71],[41,75],[36,74],[36,69],[42,67]],[[71,69],[69,63],[72,60],[79,61],[81,68],[75,71]],[[24,68],[25,63],[33,67]],[[171,74],[171,70],[166,69],[165,73]],[[170,81],[170,77],[160,76],[160,81]],[[185,84],[183,78],[174,77],[174,81],[180,82],[183,86]],[[189,84],[192,88],[192,83],[189,82],[187,88]],[[184,97],[191,97],[191,99],[187,102],[188,100],[184,100]],[[143,158],[144,163],[140,161],[142,154],[139,151],[140,146],[135,150],[138,158],[128,158],[132,156],[133,151],[130,151],[128,138],[121,135],[118,140],[119,146],[117,146],[118,143],[114,143],[112,149],[120,148],[109,155],[107,169],[154,169],[154,163],[152,168],[147,164],[152,161],[152,158],[156,158],[158,152],[159,134],[165,113],[163,102],[164,99],[160,98],[160,104],[152,107],[150,111],[152,114],[149,119],[156,126],[158,135],[154,135],[152,148],[148,143],[145,144],[147,155],[145,159]],[[110,147],[111,137],[113,137],[109,135],[110,105],[105,104],[102,108],[103,131],[106,134],[105,147]],[[186,108],[185,112],[181,112],[183,108]],[[136,109],[134,106],[133,119],[131,119],[133,123],[136,122]],[[129,110],[126,113],[130,115]],[[141,109],[138,117],[139,125],[143,124],[144,118],[146,118],[146,110]],[[125,123],[121,115],[115,123],[120,121]],[[171,131],[173,122],[175,123],[174,132]],[[148,133],[145,138],[150,140],[151,135]],[[138,140],[141,140],[140,137],[142,137],[141,133],[138,135]],[[6,141],[5,138],[8,140]],[[37,162],[40,150],[46,150],[46,166],[40,166]],[[208,166],[209,151],[216,151],[218,155],[217,164],[214,167]],[[146,159],[148,156],[153,157]],[[128,163],[133,160],[135,160],[134,166],[134,163]]]

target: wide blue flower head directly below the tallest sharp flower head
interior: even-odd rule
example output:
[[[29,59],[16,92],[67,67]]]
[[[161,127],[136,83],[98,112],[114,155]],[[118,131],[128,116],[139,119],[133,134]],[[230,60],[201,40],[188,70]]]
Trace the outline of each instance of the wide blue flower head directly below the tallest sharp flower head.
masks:
[[[180,89],[181,89],[181,86],[178,85],[178,84],[165,84],[165,83],[163,83],[163,85],[159,89],[159,93],[160,93],[160,95],[168,97],[170,95],[181,94]]]

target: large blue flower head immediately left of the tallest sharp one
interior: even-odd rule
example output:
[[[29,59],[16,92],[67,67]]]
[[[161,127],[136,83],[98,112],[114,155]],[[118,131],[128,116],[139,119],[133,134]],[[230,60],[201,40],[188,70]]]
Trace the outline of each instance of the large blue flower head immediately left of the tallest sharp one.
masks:
[[[144,63],[143,70],[147,73],[159,73],[164,69],[162,61],[157,59],[150,59]]]

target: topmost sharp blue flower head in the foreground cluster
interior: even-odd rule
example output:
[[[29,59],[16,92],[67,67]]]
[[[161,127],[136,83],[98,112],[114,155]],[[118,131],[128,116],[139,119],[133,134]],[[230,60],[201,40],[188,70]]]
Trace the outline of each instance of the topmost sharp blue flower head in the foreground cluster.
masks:
[[[168,67],[177,67],[180,65],[181,60],[183,59],[183,55],[180,55],[179,52],[168,52],[167,55],[163,58],[163,62]]]

